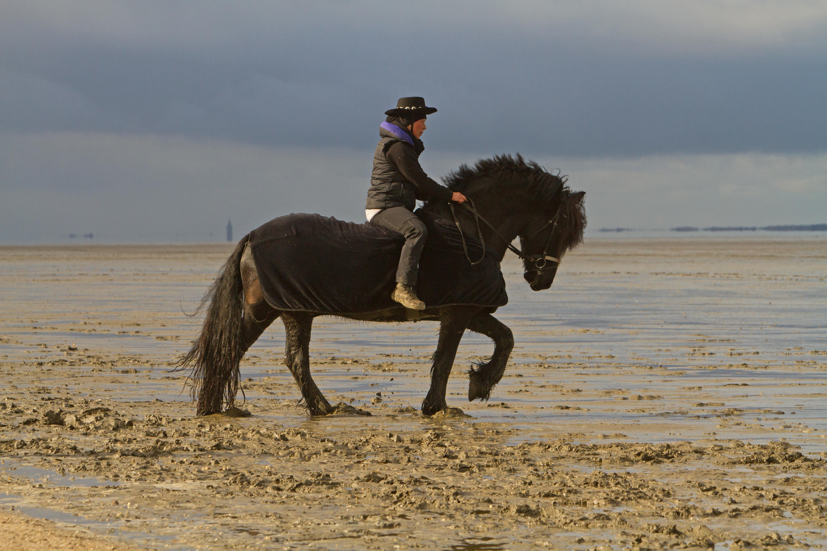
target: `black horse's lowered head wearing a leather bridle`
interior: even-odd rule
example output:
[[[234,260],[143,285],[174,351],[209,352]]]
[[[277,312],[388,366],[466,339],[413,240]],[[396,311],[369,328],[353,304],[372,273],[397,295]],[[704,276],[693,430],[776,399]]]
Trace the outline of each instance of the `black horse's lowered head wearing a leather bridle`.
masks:
[[[552,286],[557,266],[567,250],[574,249],[583,240],[586,228],[586,211],[583,197],[586,192],[572,193],[563,188],[550,211],[532,216],[519,235],[523,259],[523,278],[533,291],[543,291]]]

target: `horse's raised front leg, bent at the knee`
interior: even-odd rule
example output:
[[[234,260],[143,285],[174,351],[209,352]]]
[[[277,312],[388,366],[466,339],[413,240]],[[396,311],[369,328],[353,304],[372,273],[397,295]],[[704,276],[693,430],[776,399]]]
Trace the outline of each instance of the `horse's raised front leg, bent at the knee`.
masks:
[[[479,314],[471,318],[468,329],[485,335],[494,341],[494,354],[488,362],[480,363],[468,371],[468,401],[477,398],[488,400],[495,384],[500,382],[514,349],[514,335],[507,325],[490,314]]]

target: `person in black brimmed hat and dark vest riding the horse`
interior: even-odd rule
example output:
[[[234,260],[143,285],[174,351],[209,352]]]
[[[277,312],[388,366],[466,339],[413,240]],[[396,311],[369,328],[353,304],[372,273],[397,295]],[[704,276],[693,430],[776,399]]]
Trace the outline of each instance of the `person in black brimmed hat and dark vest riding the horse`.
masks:
[[[466,201],[460,192],[428,178],[419,166],[419,154],[425,149],[419,137],[426,129],[426,116],[435,112],[435,108],[425,106],[422,97],[400,97],[396,108],[385,112],[388,118],[380,125],[365,207],[370,223],[404,235],[396,288],[390,297],[412,310],[425,309],[415,287],[419,256],[428,238],[428,230],[413,212],[416,200]]]

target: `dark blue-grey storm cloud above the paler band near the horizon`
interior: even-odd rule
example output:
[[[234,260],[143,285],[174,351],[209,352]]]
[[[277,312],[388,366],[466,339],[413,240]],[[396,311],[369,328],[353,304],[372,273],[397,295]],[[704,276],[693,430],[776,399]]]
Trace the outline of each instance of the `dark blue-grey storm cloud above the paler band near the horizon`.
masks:
[[[766,2],[758,21],[749,2],[679,4],[686,21],[648,22],[651,2],[6,5],[0,131],[361,149],[418,93],[440,108],[428,147],[441,150],[827,150],[827,61],[806,38],[823,29],[817,5],[796,4],[815,23],[785,26],[764,21]]]

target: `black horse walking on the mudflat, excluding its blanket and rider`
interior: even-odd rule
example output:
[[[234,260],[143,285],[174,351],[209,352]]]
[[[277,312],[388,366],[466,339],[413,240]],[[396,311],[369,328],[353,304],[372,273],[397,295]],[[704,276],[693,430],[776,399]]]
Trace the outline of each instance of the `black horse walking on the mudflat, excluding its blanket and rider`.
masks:
[[[571,192],[562,185],[564,180],[536,163],[525,161],[519,154],[483,159],[473,168],[463,164],[447,176],[446,183],[452,191],[474,199],[476,212],[494,228],[481,226],[481,235],[500,260],[511,241],[519,236],[524,257],[523,277],[534,291],[551,287],[559,259],[583,240],[585,192]],[[454,220],[447,203],[429,202],[423,209]],[[479,222],[471,209],[455,210],[462,230],[476,234]],[[248,240],[249,235],[238,243],[204,295],[199,306],[199,310],[208,306],[203,329],[189,353],[178,362],[179,368],[192,370],[192,396],[198,402],[198,415],[218,413],[222,406],[234,405],[241,358],[279,317],[286,331],[284,363],[299,384],[308,413],[323,416],[355,411],[344,404],[331,406],[310,375],[310,330],[313,318],[322,314],[277,311],[271,307],[262,293]],[[440,322],[431,388],[422,403],[424,415],[448,409],[445,400],[448,376],[466,329],[486,335],[495,343],[491,358],[468,372],[468,401],[487,400],[500,382],[514,348],[514,337],[491,312],[491,308],[480,306],[441,306],[421,313],[419,319]],[[409,321],[402,306],[369,315],[342,317],[359,321]]]

